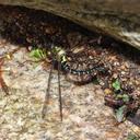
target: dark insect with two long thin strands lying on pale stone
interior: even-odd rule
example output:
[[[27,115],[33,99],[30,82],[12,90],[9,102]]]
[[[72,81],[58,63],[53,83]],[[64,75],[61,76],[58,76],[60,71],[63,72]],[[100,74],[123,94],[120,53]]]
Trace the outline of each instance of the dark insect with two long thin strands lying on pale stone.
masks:
[[[73,47],[65,49],[61,46],[51,44],[49,49],[38,49],[40,57],[50,59],[50,71],[47,82],[47,89],[45,94],[45,101],[42,109],[42,117],[45,118],[47,106],[50,97],[50,82],[52,69],[57,66],[58,71],[58,94],[59,94],[59,112],[60,120],[62,121],[62,97],[60,85],[60,71],[63,71],[69,80],[72,80],[77,84],[84,84],[92,81],[93,78],[104,74],[108,71],[101,57],[97,57],[96,51],[92,47]],[[57,63],[57,65],[56,65]]]

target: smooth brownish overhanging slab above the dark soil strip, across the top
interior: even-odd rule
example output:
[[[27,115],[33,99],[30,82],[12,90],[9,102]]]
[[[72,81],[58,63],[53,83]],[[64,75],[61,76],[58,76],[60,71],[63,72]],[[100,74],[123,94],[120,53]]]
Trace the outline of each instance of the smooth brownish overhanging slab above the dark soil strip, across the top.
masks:
[[[139,0],[0,0],[0,3],[45,10],[140,49]]]

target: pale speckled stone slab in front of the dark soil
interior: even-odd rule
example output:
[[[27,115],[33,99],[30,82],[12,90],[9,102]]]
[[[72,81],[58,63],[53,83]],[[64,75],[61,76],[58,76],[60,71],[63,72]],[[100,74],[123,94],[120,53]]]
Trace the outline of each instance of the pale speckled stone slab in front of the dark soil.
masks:
[[[0,45],[0,55],[19,46]],[[93,83],[78,86],[66,81],[61,74],[63,121],[58,108],[57,71],[54,71],[51,94],[46,118],[42,108],[49,75],[43,63],[28,61],[25,48],[21,48],[11,60],[4,62],[3,78],[10,95],[0,91],[0,139],[1,140],[127,140],[139,127],[126,121],[116,126],[113,112],[104,105],[104,93]],[[132,129],[132,130],[131,130]]]

